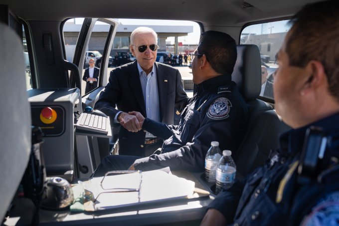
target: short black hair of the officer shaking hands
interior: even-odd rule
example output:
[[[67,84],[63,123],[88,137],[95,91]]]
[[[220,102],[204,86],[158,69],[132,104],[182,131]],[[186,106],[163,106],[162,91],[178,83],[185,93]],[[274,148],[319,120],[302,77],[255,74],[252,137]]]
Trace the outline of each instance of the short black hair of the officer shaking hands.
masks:
[[[198,53],[205,54],[211,67],[220,74],[232,74],[237,59],[235,40],[228,34],[209,30],[201,33]]]

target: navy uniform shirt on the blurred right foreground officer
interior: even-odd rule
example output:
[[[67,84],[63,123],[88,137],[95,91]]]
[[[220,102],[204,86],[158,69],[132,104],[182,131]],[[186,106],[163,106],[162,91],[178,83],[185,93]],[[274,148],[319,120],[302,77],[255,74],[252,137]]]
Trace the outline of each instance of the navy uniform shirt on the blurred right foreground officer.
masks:
[[[306,130],[321,127],[328,137],[324,158],[307,184],[297,182]],[[209,205],[234,225],[328,225],[339,222],[339,114],[280,137],[279,154]],[[244,156],[244,158],[246,158]]]

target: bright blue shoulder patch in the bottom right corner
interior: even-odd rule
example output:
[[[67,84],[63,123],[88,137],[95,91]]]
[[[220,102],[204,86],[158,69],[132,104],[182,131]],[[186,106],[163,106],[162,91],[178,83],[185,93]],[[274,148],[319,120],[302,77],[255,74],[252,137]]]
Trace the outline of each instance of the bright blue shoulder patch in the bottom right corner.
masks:
[[[326,225],[339,223],[339,192],[334,192],[320,200],[312,212],[303,220],[302,226]]]

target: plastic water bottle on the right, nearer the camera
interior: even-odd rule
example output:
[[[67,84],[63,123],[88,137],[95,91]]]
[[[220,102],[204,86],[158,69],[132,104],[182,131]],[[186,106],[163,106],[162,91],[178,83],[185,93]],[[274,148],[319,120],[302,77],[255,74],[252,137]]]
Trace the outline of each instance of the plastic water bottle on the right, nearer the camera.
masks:
[[[234,182],[235,173],[237,170],[231,154],[231,151],[224,150],[222,152],[222,157],[217,165],[215,187],[216,194],[221,192],[222,189],[230,188]]]

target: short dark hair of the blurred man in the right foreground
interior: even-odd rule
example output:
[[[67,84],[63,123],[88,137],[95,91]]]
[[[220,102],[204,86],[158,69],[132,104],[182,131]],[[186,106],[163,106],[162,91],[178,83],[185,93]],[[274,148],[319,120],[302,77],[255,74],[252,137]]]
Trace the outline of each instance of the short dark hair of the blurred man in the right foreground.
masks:
[[[339,101],[339,0],[305,5],[291,19],[286,40],[291,66],[305,67],[311,60],[325,69],[330,93]]]

